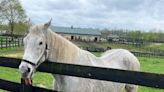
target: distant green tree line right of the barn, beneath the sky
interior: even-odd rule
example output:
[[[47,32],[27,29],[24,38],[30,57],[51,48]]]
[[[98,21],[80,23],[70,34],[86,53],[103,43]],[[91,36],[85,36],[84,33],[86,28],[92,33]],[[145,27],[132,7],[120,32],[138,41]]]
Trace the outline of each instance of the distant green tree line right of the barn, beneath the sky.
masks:
[[[164,43],[164,33],[162,31],[148,31],[143,30],[110,30],[104,29],[101,31],[102,37],[105,39],[109,38],[109,35],[116,35],[119,38],[131,40],[131,41],[142,41],[142,42],[162,42]]]

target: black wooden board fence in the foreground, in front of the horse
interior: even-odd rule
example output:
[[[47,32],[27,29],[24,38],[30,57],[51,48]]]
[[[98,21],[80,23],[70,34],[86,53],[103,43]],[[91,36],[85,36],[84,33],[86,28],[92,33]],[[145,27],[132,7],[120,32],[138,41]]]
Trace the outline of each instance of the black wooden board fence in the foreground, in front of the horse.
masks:
[[[0,57],[0,66],[18,68],[20,62],[21,59]],[[38,67],[38,71],[164,89],[164,74],[52,63],[48,61],[41,64]],[[8,86],[4,86],[4,85],[8,85]],[[4,89],[4,90],[17,91],[17,92],[27,92],[27,91],[41,92],[43,90],[42,92],[52,92],[52,90],[48,90],[48,89],[43,89],[33,86],[27,87],[26,85],[24,86],[22,85],[24,84],[9,82],[2,79],[0,80],[0,89]]]

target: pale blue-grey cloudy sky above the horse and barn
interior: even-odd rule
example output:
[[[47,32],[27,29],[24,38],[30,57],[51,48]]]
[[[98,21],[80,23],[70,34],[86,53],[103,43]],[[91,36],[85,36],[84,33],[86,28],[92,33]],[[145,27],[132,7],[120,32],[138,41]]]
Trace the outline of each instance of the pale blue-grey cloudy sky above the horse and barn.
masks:
[[[34,24],[164,30],[164,0],[20,0]]]

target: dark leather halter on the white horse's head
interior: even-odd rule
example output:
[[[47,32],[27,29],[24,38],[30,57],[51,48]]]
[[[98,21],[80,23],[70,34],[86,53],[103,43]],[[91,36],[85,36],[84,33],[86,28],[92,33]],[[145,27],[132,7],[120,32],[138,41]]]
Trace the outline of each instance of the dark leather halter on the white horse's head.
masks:
[[[47,46],[47,43],[46,43],[46,47],[45,47],[45,50],[44,50],[44,53],[43,53],[43,55],[45,55],[45,60],[47,59],[47,54],[48,54],[48,46]],[[42,55],[42,56],[43,56]],[[42,57],[41,57],[42,58]],[[41,59],[40,58],[40,59]],[[39,61],[40,61],[40,59],[39,59]],[[36,67],[36,66],[38,66],[38,64],[40,63],[39,61],[35,64],[35,63],[33,63],[33,62],[31,62],[31,61],[29,61],[29,60],[26,60],[26,59],[22,59],[22,61],[23,62],[26,62],[26,63],[28,63],[28,64],[30,64],[30,65],[32,65],[32,66],[34,66],[34,67]]]

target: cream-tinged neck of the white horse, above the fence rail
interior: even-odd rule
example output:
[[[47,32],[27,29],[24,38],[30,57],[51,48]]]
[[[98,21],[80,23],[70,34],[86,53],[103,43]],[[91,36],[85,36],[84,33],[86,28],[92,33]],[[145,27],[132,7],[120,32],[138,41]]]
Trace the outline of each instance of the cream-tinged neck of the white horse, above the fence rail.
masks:
[[[64,37],[52,32],[51,30],[48,31],[48,40],[50,41],[50,61],[75,63],[80,48],[66,40]]]

